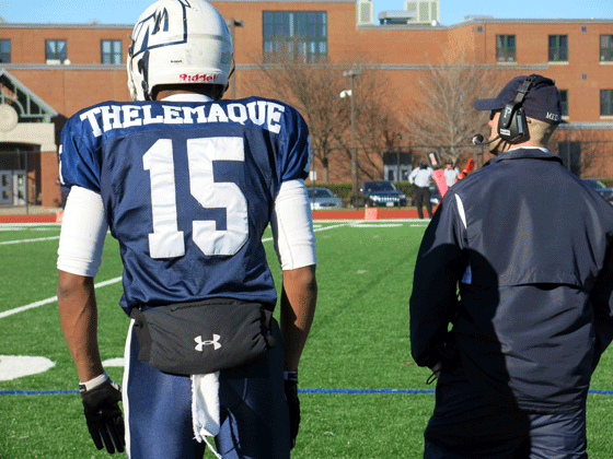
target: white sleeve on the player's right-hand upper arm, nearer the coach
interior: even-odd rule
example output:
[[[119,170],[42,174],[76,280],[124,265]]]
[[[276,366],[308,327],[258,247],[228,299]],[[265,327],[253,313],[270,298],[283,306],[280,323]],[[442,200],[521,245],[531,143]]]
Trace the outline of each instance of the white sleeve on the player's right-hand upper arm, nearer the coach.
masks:
[[[284,271],[316,264],[315,233],[303,180],[281,184],[270,226]]]

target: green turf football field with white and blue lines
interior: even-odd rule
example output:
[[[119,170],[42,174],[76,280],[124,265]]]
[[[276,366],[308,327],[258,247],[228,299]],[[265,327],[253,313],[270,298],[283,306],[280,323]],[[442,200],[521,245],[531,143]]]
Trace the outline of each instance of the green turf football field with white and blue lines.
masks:
[[[408,297],[425,226],[409,221],[315,225],[320,295],[300,366],[302,423],[292,458],[419,458],[435,397],[426,392],[433,389],[426,385],[429,372],[412,362]],[[53,299],[58,235],[57,225],[0,225],[0,355],[55,363],[43,373],[9,379],[7,360],[0,357],[0,459],[108,456],[93,446],[73,392],[78,376]],[[279,282],[269,235],[264,244]],[[96,291],[103,360],[123,356],[128,319],[118,306],[120,274],[118,245],[108,236],[96,278],[96,284],[108,281]],[[107,372],[122,380],[120,366]],[[590,458],[611,459],[611,351],[592,389]]]

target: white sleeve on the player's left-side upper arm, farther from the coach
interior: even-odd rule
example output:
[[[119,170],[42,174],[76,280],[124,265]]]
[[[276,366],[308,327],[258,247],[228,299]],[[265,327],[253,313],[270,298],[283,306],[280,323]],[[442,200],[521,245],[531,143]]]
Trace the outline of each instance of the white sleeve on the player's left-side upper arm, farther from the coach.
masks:
[[[102,196],[73,186],[63,210],[57,268],[94,278],[102,262],[107,228]]]

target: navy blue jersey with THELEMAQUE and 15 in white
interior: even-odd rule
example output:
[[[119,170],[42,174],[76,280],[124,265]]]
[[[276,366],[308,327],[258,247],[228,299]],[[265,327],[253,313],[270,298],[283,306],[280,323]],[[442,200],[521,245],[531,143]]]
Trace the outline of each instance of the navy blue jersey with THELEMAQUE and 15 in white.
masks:
[[[102,196],[122,306],[231,297],[274,305],[262,235],[280,184],[310,168],[292,107],[250,97],[106,102],[66,123],[60,173]]]

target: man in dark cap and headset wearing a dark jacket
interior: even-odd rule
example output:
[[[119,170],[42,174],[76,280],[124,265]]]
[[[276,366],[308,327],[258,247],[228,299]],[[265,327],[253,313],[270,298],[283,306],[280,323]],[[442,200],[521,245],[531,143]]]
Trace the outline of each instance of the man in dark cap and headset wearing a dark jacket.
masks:
[[[547,151],[552,80],[514,78],[474,107],[490,110],[495,157],[450,188],[415,267],[412,353],[438,377],[424,457],[587,458],[588,388],[613,339],[613,207]]]

